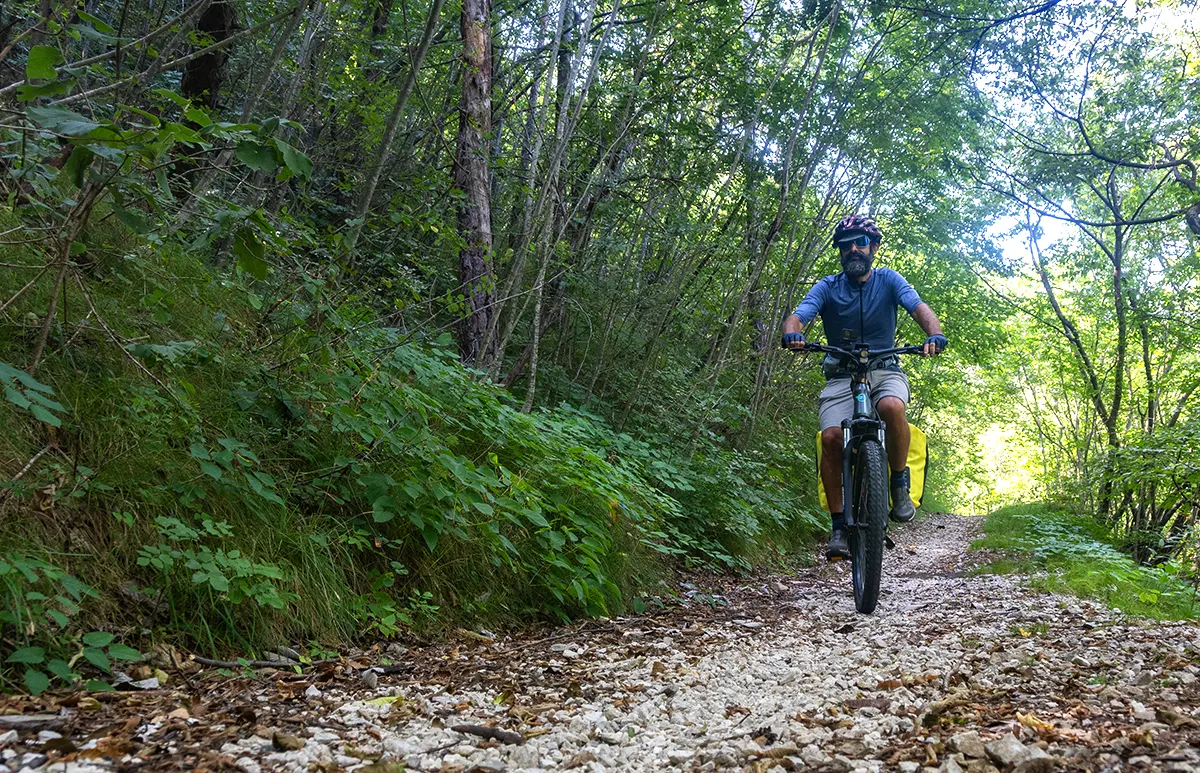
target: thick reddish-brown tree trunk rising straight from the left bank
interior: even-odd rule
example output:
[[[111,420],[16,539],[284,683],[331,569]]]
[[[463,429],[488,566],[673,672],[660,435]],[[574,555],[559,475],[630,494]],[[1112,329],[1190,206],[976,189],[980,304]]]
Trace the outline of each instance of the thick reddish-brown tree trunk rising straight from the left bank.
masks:
[[[496,355],[485,344],[492,324],[496,278],[492,272],[492,200],[488,185],[487,142],[492,128],[491,0],[462,4],[462,96],[458,102],[458,139],[454,181],[462,192],[457,203],[458,288],[463,318],[458,323],[458,353],[463,362],[488,368]]]

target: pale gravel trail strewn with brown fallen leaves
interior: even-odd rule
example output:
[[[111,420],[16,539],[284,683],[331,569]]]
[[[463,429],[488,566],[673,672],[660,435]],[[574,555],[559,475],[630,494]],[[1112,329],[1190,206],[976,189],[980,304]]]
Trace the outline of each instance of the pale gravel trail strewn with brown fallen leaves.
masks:
[[[187,759],[247,773],[1200,771],[1200,629],[971,574],[979,523],[896,529],[872,616],[854,612],[848,563],[685,586],[676,615],[464,636],[409,653],[407,672],[281,682],[253,699],[257,719],[187,719],[211,744]],[[136,737],[164,732],[157,719]],[[480,735],[496,731],[524,741]]]

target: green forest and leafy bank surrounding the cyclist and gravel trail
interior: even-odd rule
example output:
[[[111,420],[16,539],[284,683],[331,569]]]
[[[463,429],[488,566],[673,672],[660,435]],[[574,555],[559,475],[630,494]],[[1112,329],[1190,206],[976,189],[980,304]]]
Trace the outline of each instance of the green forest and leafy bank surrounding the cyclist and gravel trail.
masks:
[[[950,342],[923,509],[1194,610],[1198,110],[1190,0],[4,2],[4,687],[803,563],[854,212]]]

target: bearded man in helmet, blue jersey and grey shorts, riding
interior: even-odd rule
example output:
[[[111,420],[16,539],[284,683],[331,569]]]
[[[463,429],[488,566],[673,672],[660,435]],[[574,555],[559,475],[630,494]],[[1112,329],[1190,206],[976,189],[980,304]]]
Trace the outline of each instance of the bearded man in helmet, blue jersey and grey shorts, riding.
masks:
[[[820,314],[826,340],[851,348],[865,343],[870,349],[895,347],[896,310],[904,306],[925,335],[925,356],[940,354],[949,341],[942,323],[920,300],[917,290],[892,269],[872,268],[883,233],[865,215],[851,215],[838,223],[833,244],[841,257],[841,274],[817,282],[800,305],[784,322],[784,347],[804,346],[804,329]],[[890,467],[892,513],[889,517],[907,522],[917,514],[908,497],[908,378],[900,370],[899,358],[878,361],[868,380],[875,411],[887,424],[888,466]],[[833,519],[833,533],[826,549],[827,558],[850,557],[846,516],[841,496],[841,421],[853,415],[850,373],[833,358],[824,361],[826,386],[821,391],[821,483]]]

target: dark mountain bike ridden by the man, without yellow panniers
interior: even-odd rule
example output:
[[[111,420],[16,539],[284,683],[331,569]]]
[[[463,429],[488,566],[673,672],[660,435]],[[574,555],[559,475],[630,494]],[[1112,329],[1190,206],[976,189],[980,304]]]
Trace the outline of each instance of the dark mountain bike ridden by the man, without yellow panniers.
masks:
[[[821,352],[838,359],[851,372],[854,415],[841,423],[841,496],[850,541],[854,609],[864,615],[875,611],[880,599],[883,547],[892,547],[888,531],[888,455],[886,425],[875,413],[868,374],[872,365],[899,354],[924,354],[920,346],[902,346],[871,352],[865,344],[853,349],[805,343],[798,352]]]

